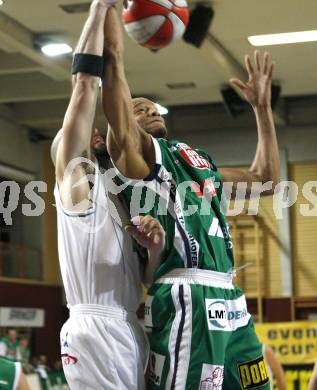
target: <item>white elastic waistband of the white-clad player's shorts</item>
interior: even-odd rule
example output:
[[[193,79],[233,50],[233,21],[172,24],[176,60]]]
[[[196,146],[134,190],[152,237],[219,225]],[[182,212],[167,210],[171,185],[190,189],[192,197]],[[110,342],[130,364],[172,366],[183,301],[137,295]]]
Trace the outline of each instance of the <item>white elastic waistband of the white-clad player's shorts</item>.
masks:
[[[138,322],[136,313],[126,311],[119,307],[104,305],[74,305],[69,307],[70,316],[73,315],[93,315],[98,317],[114,318],[127,322]]]

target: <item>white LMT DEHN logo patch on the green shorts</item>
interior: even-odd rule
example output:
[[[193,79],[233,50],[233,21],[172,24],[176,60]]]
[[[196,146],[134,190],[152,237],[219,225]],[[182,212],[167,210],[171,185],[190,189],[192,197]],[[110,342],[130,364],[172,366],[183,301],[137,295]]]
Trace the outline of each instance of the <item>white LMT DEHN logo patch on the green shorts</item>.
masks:
[[[248,313],[245,297],[235,300],[206,299],[208,329],[230,332],[247,325]]]

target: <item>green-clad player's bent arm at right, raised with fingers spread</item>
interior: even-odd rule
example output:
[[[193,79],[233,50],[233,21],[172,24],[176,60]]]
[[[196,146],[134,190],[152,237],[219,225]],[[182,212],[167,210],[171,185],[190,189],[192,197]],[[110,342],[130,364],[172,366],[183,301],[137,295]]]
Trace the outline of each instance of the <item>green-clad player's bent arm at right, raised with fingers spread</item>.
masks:
[[[233,182],[233,192],[236,194],[239,182],[247,183],[247,196],[251,195],[251,189],[261,195],[271,195],[275,185],[279,182],[279,149],[276,138],[276,131],[271,108],[271,84],[274,64],[271,62],[269,53],[263,58],[260,53],[254,53],[255,69],[249,56],[245,57],[246,68],[249,80],[243,82],[238,79],[231,79],[230,82],[241,89],[246,100],[253,108],[258,131],[258,145],[253,163],[247,172],[234,168],[219,168],[224,182]],[[258,189],[254,183],[259,183]],[[271,189],[261,190],[261,185],[272,182]],[[268,183],[270,187],[270,183]]]

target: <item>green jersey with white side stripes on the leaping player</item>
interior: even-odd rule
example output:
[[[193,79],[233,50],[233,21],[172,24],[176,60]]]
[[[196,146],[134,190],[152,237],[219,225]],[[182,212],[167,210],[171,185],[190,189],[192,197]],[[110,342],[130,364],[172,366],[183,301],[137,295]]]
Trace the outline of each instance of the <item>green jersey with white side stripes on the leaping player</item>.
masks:
[[[229,272],[232,241],[221,209],[223,186],[202,150],[178,141],[153,139],[155,168],[143,181],[119,175],[131,215],[151,215],[166,231],[166,256],[155,279],[175,268]]]

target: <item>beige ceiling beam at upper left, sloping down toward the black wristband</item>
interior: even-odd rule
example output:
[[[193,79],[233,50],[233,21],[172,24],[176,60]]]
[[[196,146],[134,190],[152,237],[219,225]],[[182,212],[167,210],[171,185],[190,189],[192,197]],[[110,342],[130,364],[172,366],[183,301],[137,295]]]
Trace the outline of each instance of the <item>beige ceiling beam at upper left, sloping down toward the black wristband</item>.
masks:
[[[37,64],[41,71],[54,80],[70,78],[70,59],[47,58],[34,49],[34,36],[26,27],[0,12],[0,47],[21,53]]]

